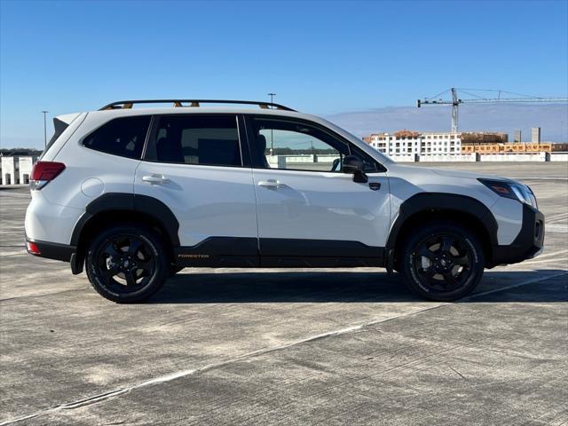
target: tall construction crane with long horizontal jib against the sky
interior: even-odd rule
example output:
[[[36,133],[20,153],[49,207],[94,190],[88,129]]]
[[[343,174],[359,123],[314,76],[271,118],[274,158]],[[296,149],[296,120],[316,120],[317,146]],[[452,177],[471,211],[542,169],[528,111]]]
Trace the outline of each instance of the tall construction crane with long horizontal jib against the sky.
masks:
[[[416,101],[416,106],[419,108],[422,105],[451,105],[452,106],[452,132],[458,131],[458,107],[460,104],[493,104],[497,102],[548,102],[548,103],[559,103],[568,102],[568,98],[543,98],[539,96],[521,95],[520,93],[513,93],[511,91],[492,91],[487,89],[460,89],[461,93],[465,93],[472,96],[473,99],[461,99],[458,97],[458,89],[455,87],[448,89],[447,91],[442,91],[438,95],[431,98],[418,99]],[[484,96],[478,96],[475,93],[470,93],[468,91],[484,91],[491,92],[492,94],[497,93],[497,98],[486,98]],[[452,94],[452,99],[441,99],[441,95],[450,92]],[[505,94],[506,98],[501,98],[501,94]],[[510,95],[514,97],[511,98]],[[493,95],[494,96],[494,95]]]

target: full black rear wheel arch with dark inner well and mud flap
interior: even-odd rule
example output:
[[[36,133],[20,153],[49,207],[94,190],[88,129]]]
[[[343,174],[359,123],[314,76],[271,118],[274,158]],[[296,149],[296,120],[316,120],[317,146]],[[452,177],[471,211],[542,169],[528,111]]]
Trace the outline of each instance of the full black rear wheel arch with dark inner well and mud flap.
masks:
[[[126,222],[146,225],[162,235],[170,259],[179,246],[179,222],[162,201],[133,193],[106,193],[91,201],[75,224],[70,244],[76,247],[71,258],[73,273],[83,271],[86,248],[91,237],[111,223]]]

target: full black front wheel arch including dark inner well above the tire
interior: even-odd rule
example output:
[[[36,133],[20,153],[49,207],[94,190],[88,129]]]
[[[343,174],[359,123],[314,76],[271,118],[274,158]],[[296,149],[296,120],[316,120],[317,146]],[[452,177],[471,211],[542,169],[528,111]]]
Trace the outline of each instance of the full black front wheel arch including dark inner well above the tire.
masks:
[[[402,244],[416,226],[440,219],[462,225],[475,233],[484,249],[485,259],[492,258],[492,247],[497,244],[498,225],[485,204],[467,195],[417,193],[400,205],[398,217],[390,228],[386,243],[390,264],[399,269]]]

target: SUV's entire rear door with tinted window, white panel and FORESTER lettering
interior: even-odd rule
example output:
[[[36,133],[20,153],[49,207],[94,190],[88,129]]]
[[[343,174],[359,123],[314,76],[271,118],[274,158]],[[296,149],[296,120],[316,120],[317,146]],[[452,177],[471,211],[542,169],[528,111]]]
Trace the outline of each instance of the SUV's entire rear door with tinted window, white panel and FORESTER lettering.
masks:
[[[154,116],[135,193],[177,217],[177,261],[257,263],[255,192],[239,122],[236,114]]]

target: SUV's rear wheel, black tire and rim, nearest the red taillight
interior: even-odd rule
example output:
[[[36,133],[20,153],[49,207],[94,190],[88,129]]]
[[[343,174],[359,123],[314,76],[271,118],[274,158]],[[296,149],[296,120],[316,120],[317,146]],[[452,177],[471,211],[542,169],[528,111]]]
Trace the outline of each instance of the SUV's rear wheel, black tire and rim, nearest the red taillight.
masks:
[[[100,296],[119,304],[146,300],[170,276],[167,251],[157,233],[144,226],[116,225],[88,248],[87,277]]]

